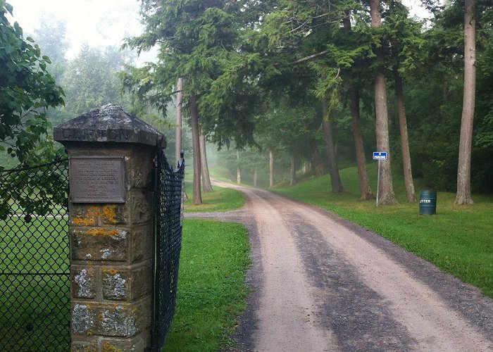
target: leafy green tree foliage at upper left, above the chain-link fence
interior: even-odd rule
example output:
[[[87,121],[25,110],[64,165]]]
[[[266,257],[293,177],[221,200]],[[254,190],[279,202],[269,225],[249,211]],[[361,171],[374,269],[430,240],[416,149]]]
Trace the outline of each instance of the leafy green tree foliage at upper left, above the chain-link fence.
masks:
[[[47,71],[48,56],[23,37],[18,23],[8,22],[12,6],[0,5],[0,150],[20,163],[33,163],[48,150],[54,154],[46,111],[64,103],[63,90]]]

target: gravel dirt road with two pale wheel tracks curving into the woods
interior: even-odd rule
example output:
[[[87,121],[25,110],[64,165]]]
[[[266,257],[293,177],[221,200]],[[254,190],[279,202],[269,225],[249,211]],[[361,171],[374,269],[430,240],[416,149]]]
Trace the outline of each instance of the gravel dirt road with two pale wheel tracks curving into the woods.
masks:
[[[493,301],[477,289],[325,210],[237,188],[243,210],[187,217],[249,228],[238,351],[493,351]]]

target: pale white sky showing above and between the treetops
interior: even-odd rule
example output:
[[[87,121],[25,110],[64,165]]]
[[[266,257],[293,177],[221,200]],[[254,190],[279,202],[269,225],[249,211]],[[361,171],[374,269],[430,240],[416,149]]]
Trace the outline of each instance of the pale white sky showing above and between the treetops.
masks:
[[[125,37],[142,32],[139,0],[7,0],[13,17],[25,33],[32,34],[43,14],[66,20],[70,42],[68,58],[73,58],[84,43],[90,46],[120,46]],[[428,13],[420,0],[403,0],[411,14],[420,18]],[[153,61],[156,52],[142,53],[139,62]]]

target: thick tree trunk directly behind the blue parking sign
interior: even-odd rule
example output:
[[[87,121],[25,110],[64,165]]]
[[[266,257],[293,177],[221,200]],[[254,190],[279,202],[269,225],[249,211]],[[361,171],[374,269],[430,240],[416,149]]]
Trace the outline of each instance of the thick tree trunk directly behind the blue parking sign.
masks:
[[[380,27],[380,0],[370,0],[371,26]],[[375,70],[375,130],[378,151],[389,153],[389,115],[387,111],[387,85],[385,82],[385,67],[382,48],[375,48],[377,56],[377,69]],[[390,156],[390,153],[388,154]],[[380,194],[378,205],[395,204],[397,199],[392,185],[392,172],[390,170],[390,158],[380,161]]]

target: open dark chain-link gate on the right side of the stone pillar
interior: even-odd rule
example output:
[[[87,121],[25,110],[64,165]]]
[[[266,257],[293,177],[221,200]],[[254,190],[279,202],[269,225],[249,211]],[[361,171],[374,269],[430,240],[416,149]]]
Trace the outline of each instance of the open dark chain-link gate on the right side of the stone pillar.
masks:
[[[185,161],[182,153],[177,170],[173,170],[166,160],[163,149],[158,147],[155,162],[156,236],[151,351],[161,351],[175,314],[182,247]]]

